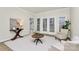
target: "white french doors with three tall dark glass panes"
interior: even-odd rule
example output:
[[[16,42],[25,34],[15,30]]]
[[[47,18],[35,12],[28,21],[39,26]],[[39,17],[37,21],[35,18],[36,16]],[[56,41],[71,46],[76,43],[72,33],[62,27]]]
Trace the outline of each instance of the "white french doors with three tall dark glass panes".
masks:
[[[55,18],[37,18],[37,32],[45,34],[55,33]]]

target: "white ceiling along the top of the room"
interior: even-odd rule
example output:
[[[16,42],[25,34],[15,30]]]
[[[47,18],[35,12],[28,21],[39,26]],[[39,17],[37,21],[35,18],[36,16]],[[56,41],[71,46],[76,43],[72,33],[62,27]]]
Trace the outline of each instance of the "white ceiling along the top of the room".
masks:
[[[20,8],[33,13],[39,13],[44,11],[56,10],[64,7],[20,7]]]

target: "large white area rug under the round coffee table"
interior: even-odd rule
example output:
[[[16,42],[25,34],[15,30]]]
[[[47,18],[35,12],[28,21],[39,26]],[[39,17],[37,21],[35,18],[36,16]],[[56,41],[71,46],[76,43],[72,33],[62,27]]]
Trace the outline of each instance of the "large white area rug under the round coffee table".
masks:
[[[14,51],[59,51],[57,48],[51,47],[54,44],[56,45],[54,37],[44,36],[44,38],[41,38],[43,44],[39,42],[37,45],[33,42],[34,39],[29,35],[14,41],[5,42],[5,45]]]

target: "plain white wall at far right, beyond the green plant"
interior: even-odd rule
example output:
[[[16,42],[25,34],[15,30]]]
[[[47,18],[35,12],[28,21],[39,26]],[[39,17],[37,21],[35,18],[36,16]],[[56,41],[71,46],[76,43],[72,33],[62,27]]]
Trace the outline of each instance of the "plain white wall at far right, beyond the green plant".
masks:
[[[75,37],[76,39],[76,37],[79,37],[79,7],[71,8],[71,29],[72,38]]]

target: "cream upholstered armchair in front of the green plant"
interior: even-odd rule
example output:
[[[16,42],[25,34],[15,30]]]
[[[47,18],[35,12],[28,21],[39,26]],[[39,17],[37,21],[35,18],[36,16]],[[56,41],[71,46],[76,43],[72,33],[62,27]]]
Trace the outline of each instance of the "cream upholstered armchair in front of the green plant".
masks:
[[[61,29],[61,32],[58,32],[55,35],[55,39],[61,40],[67,40],[68,38],[68,29]]]

